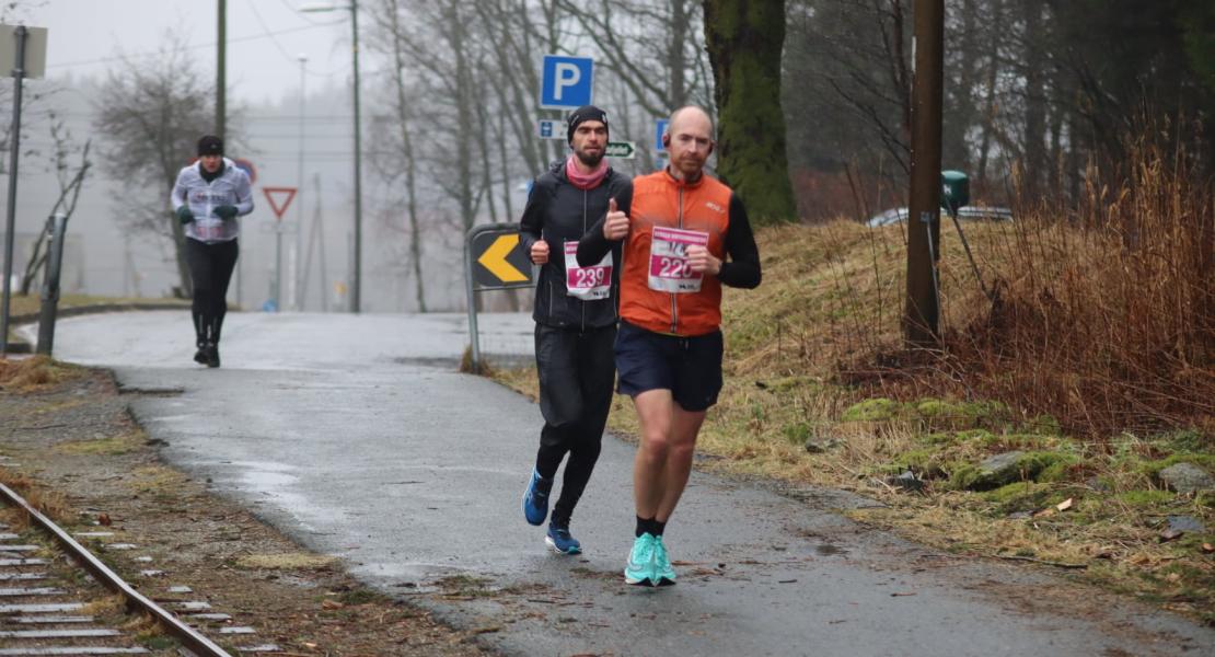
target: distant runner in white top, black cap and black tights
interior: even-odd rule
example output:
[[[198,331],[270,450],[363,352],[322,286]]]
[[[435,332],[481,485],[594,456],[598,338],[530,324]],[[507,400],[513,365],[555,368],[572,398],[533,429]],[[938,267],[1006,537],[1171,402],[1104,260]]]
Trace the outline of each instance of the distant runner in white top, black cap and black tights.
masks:
[[[249,176],[224,157],[219,137],[207,135],[198,140],[198,162],[177,174],[169,202],[186,231],[186,262],[194,287],[194,361],[220,367],[227,287],[239,255],[236,217],[253,211]]]

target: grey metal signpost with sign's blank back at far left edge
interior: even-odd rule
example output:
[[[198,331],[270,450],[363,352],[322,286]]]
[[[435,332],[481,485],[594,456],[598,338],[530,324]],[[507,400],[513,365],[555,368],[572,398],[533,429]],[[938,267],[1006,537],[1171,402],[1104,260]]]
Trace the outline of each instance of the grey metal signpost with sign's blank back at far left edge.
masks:
[[[17,232],[17,163],[21,159],[21,91],[26,78],[41,78],[46,72],[46,28],[0,26],[0,70],[5,69],[12,72],[12,132],[9,136],[9,217],[4,238],[0,355],[9,353],[9,301],[12,294],[12,250]]]

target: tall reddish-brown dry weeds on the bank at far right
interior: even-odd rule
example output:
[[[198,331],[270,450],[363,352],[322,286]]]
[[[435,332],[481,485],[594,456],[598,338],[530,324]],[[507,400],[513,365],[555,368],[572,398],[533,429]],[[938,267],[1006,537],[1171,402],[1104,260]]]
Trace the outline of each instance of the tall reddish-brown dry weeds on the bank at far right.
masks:
[[[1090,180],[1101,180],[1090,170]],[[995,301],[946,335],[961,383],[1074,434],[1215,434],[1215,187],[1151,147],[1059,216],[1023,204]]]

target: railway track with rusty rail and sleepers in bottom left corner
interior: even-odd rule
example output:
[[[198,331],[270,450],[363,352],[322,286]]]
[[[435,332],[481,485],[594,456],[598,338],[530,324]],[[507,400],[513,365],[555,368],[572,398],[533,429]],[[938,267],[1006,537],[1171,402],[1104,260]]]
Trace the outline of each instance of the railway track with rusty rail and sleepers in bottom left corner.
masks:
[[[109,542],[106,531],[70,534],[2,483],[0,506],[30,520],[21,532],[0,522],[0,657],[279,652],[258,641],[255,628],[173,584],[152,557],[135,556],[146,566],[137,589],[81,542],[107,551],[137,551],[137,545]]]

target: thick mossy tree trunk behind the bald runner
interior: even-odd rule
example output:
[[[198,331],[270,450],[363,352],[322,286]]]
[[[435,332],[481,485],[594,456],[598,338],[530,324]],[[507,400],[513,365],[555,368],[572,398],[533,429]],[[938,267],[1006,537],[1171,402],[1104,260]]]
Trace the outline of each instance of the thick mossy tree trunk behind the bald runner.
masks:
[[[703,7],[719,121],[717,172],[753,223],[796,221],[780,108],[785,2],[705,0]]]

